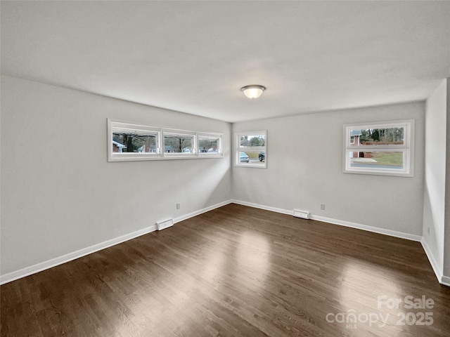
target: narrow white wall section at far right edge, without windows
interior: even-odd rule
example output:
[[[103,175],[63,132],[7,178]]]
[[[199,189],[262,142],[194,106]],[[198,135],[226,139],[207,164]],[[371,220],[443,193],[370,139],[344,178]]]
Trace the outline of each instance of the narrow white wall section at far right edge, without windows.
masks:
[[[425,103],[423,244],[437,275],[444,267],[446,91],[445,80]]]

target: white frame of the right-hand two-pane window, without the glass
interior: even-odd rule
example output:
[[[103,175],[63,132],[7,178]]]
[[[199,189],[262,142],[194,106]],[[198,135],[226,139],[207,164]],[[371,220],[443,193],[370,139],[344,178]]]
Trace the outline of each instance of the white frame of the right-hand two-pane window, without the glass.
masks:
[[[404,128],[404,144],[402,145],[357,145],[350,143],[350,130],[366,129],[366,128]],[[400,121],[378,121],[359,124],[344,125],[344,159],[342,162],[342,171],[344,173],[371,174],[377,176],[414,176],[414,120],[405,119]],[[351,167],[351,152],[403,152],[404,168],[403,169],[387,169],[372,167]]]

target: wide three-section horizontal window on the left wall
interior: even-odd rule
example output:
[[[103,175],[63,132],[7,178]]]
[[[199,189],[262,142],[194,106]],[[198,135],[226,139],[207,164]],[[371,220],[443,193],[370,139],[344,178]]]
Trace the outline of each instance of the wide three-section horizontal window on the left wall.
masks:
[[[224,157],[222,136],[108,119],[108,161]]]

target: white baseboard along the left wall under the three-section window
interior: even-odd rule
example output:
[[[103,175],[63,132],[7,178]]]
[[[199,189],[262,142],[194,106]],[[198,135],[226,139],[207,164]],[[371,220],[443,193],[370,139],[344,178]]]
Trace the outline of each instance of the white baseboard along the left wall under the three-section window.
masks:
[[[179,218],[174,219],[174,223],[179,223],[182,220],[186,220],[188,218],[192,218],[193,216],[198,216],[201,213],[205,213],[207,211],[212,211],[213,209],[217,209],[221,206],[230,204],[231,201],[224,201],[220,204],[216,204],[213,206],[206,207],[205,209],[200,209],[199,211],[195,211],[193,213],[186,214],[186,216],[180,216]],[[49,269],[51,267],[56,267],[57,265],[62,265],[63,263],[75,260],[77,258],[81,258],[82,256],[89,255],[91,253],[95,253],[96,251],[101,251],[102,249],[108,248],[110,246],[114,246],[115,244],[121,244],[122,242],[134,239],[135,237],[140,237],[143,234],[148,234],[157,229],[156,224],[151,225],[149,227],[143,228],[142,230],[137,230],[136,232],[131,232],[129,234],[122,235],[121,237],[116,237],[115,239],[110,239],[105,242],[101,242],[99,244],[94,244],[94,246],[89,246],[84,249],[80,249],[79,251],[74,251],[72,253],[65,254],[63,256],[58,256],[58,258],[52,258],[51,260],[46,260],[41,263],[37,263],[35,265],[30,265],[30,267],[25,267],[20,270],[16,270],[14,272],[9,272],[5,275],[0,275],[0,284],[5,284],[8,282],[12,282],[16,279],[21,279],[22,277],[27,277],[29,275],[35,274],[37,272],[41,272],[43,270]]]

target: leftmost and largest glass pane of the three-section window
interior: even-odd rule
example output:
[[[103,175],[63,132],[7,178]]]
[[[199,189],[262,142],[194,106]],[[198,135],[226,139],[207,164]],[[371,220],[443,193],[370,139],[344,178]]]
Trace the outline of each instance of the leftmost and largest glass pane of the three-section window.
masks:
[[[156,153],[157,141],[156,135],[113,132],[113,152]]]

